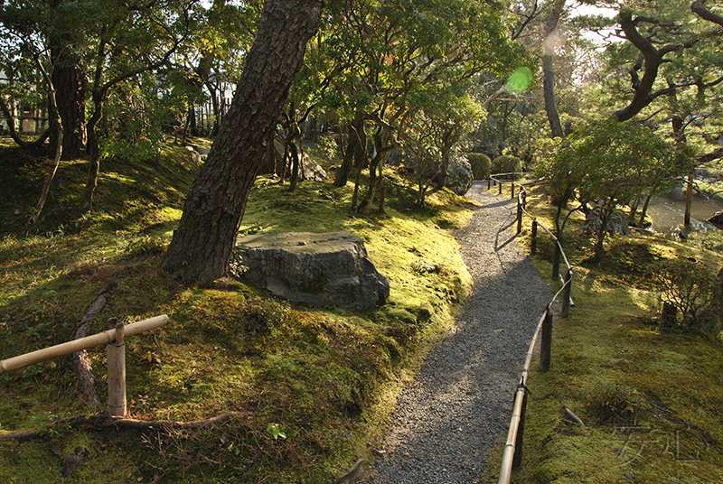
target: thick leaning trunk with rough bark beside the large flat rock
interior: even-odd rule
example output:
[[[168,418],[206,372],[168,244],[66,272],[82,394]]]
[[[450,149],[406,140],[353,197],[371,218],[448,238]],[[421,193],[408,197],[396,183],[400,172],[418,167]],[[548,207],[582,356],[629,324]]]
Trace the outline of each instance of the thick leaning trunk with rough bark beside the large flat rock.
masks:
[[[183,283],[207,285],[225,273],[269,132],[322,9],[318,0],[267,1],[229,112],[162,262]]]

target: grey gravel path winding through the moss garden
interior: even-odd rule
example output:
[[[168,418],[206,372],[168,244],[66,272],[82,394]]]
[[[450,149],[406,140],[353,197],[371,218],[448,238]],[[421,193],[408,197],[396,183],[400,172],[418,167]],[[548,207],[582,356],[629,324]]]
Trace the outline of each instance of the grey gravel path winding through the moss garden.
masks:
[[[365,482],[479,482],[489,452],[506,440],[525,354],[552,292],[517,247],[512,201],[477,182],[467,198],[482,203],[455,234],[473,292],[455,331],[399,396],[385,453]]]

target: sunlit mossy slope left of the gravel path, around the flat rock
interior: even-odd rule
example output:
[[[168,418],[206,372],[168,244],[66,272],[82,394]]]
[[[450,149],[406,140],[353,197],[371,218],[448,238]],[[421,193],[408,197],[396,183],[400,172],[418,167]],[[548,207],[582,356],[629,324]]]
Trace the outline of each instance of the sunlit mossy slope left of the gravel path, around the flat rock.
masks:
[[[259,178],[244,232],[348,230],[366,242],[391,283],[379,311],[292,305],[234,280],[183,287],[158,262],[180,218],[194,171],[169,146],[144,164],[106,162],[93,211],[81,217],[85,163],[64,162],[38,227],[23,226],[47,160],[0,154],[0,356],[68,340],[111,279],[117,287],[95,322],[167,313],[171,323],[127,340],[127,400],[141,419],[238,416],[215,429],[99,432],[75,422],[70,358],[0,377],[0,433],[47,427],[40,438],[0,440],[0,480],[58,482],[68,455],[88,452],[66,482],[324,482],[369,456],[394,396],[421,355],[454,324],[469,275],[450,230],[470,214],[442,191],[414,208],[411,185],[390,173],[388,217],[356,216],[351,186],[303,182],[294,194]],[[431,317],[430,317],[431,315]],[[105,351],[89,351],[106,401]],[[286,439],[275,440],[269,423]]]

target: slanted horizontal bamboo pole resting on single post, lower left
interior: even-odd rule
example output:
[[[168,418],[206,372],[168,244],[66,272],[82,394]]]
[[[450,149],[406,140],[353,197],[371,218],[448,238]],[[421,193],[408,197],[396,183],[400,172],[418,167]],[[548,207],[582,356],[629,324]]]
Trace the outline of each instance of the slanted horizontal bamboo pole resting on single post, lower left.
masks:
[[[168,316],[162,314],[144,321],[134,322],[125,327],[125,336],[133,336],[148,330],[155,330],[168,323]],[[7,358],[0,361],[0,375],[5,375],[8,371],[29,367],[42,361],[52,358],[58,358],[70,353],[75,353],[82,349],[93,348],[94,346],[108,344],[110,341],[116,340],[116,330],[107,330],[96,333],[80,340],[72,340],[66,343],[52,346],[50,348],[38,349],[36,351],[25,353],[13,358]]]

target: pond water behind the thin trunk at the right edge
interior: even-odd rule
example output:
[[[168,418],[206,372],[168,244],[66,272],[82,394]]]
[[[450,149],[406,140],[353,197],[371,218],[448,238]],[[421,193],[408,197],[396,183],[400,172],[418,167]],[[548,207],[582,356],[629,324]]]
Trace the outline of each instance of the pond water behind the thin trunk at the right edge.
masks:
[[[682,230],[684,233],[688,233],[690,230],[723,229],[723,227],[716,227],[706,221],[720,210],[723,210],[723,200],[719,197],[706,199],[693,193],[690,206],[690,229],[686,229],[683,226],[685,191],[682,188],[675,188],[661,196],[653,197],[648,207],[648,215],[653,219],[653,229],[656,232],[671,234]]]

